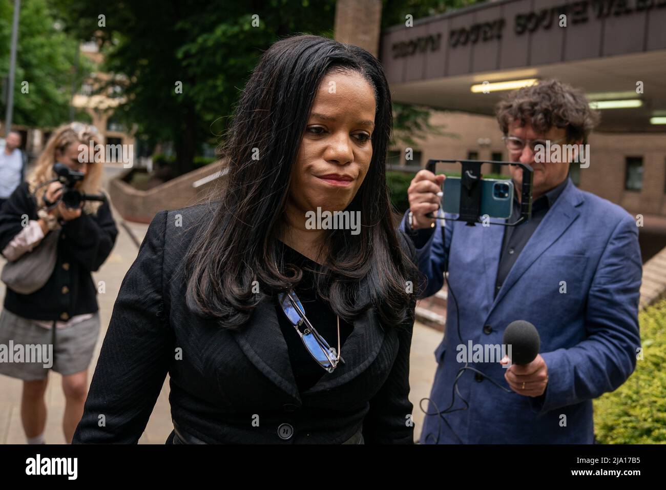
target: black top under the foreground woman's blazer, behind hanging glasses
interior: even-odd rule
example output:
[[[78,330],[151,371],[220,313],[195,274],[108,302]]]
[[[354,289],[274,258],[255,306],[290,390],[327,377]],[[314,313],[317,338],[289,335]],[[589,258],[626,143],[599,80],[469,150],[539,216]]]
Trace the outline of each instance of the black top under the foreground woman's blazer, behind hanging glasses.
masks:
[[[333,313],[328,303],[314,291],[315,273],[312,270],[316,270],[321,266],[292,249],[292,247],[282,243],[282,241],[279,243],[282,245],[284,264],[296,265],[303,271],[303,277],[300,283],[294,287],[294,291],[303,305],[306,317],[319,334],[326,339],[328,345],[338,351],[337,315]],[[284,273],[284,271],[282,272]],[[296,385],[298,385],[299,391],[305,391],[314,386],[324,373],[326,373],[326,370],[312,359],[312,356],[308,353],[308,349],[306,349],[303,341],[300,339],[300,335],[296,332],[294,325],[287,319],[278,301],[275,301],[275,308],[282,335],[284,335],[284,340],[287,343],[289,359],[294,371],[294,378],[296,378]],[[303,329],[304,327],[301,327],[301,332]],[[342,351],[343,359],[344,341],[346,341],[353,329],[354,325],[350,325],[350,323],[340,318],[340,346],[342,346],[340,351]],[[340,365],[338,364],[338,367]]]

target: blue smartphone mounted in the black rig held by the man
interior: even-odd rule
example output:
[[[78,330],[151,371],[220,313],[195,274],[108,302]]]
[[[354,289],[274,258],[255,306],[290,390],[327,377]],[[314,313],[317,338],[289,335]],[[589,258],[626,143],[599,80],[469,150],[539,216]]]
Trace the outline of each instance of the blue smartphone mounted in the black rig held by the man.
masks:
[[[460,213],[460,177],[446,177],[442,209],[445,213]],[[513,181],[482,179],[480,216],[511,217],[513,209]]]

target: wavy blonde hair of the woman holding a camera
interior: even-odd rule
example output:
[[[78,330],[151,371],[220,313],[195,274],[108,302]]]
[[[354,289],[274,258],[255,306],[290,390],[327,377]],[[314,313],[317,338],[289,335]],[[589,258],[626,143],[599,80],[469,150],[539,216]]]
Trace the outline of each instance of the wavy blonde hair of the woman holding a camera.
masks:
[[[91,141],[93,141],[93,148],[97,143],[101,143],[99,135],[90,126],[83,123],[63,124],[53,131],[44,151],[37,158],[35,168],[27,177],[28,190],[35,195],[37,203],[42,202],[42,197],[49,187],[49,185],[42,184],[57,177],[53,171],[53,164],[56,162],[55,151],[59,150],[63,153],[72,143],[89,147]],[[89,155],[89,161],[79,191],[86,194],[99,194],[104,171],[103,163],[95,162],[94,155]],[[35,191],[35,189],[37,190]],[[85,201],[81,208],[87,214],[95,214],[101,204],[101,201]]]

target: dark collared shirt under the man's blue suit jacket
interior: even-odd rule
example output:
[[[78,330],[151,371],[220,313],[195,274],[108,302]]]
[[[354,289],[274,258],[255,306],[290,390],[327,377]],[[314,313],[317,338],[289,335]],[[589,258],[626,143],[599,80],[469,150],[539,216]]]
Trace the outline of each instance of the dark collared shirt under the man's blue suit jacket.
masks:
[[[529,237],[532,236],[545,213],[553,207],[553,204],[562,193],[565,187],[569,183],[569,178],[564,179],[559,185],[550,189],[547,193],[541,195],[538,199],[535,199],[532,203],[532,215],[529,221],[526,223],[520,223],[517,226],[505,226],[504,227],[504,238],[501,245],[500,252],[500,265],[498,267],[498,277],[495,282],[495,291],[494,295],[497,295],[500,292],[501,285],[506,280],[511,267],[518,259],[523,248],[529,241]],[[517,191],[513,195],[513,210],[511,211],[511,217],[507,220],[507,223],[513,223],[517,221],[520,217],[520,203],[518,202]]]

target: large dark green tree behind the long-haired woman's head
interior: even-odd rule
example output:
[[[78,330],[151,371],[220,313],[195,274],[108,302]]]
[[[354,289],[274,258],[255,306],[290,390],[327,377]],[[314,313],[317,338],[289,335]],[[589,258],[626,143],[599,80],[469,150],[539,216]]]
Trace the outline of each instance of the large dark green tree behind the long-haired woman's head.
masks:
[[[178,175],[192,169],[202,143],[220,141],[261,53],[295,33],[332,37],[335,15],[334,0],[52,1],[67,31],[101,43],[103,70],[127,75],[115,115],[151,141],[172,142]],[[414,127],[428,127],[429,111],[396,108],[409,112],[398,121],[426,117]]]

